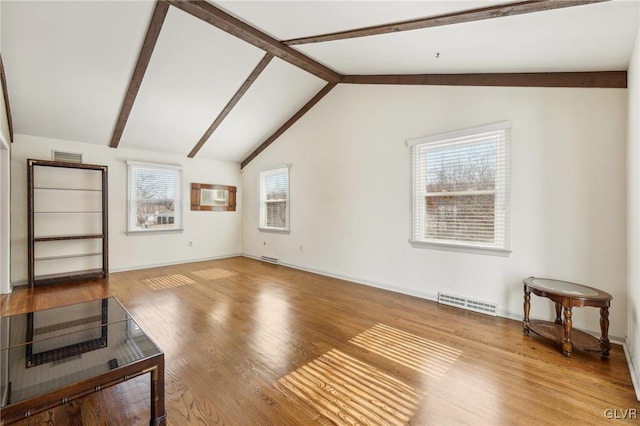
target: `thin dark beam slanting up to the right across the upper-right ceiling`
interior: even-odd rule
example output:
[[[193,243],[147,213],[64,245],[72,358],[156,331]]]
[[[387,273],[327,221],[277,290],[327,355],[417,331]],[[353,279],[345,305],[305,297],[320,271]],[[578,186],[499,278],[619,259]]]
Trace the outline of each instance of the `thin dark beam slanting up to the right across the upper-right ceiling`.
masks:
[[[463,22],[481,21],[505,16],[522,15],[525,13],[542,12],[545,10],[560,9],[564,7],[581,6],[591,3],[600,3],[611,0],[529,0],[517,3],[500,4],[495,6],[471,9],[460,12],[445,13],[427,18],[413,19],[410,21],[396,22],[392,24],[376,25],[372,27],[358,28],[354,30],[339,31],[311,37],[300,37],[286,40],[283,43],[288,46],[309,43],[321,43],[325,41],[344,40],[349,38],[367,37],[380,34],[396,33],[400,31],[418,30],[443,25],[460,24]]]

